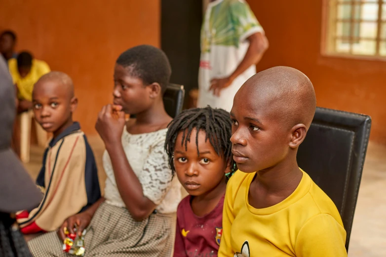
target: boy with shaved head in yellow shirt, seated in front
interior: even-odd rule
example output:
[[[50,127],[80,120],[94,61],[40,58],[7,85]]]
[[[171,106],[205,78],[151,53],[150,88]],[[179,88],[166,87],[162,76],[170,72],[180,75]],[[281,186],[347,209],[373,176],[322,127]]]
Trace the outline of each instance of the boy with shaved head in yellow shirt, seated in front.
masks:
[[[296,161],[315,108],[308,77],[290,67],[262,71],[238,90],[231,142],[239,171],[228,182],[219,256],[347,256],[336,206]]]

